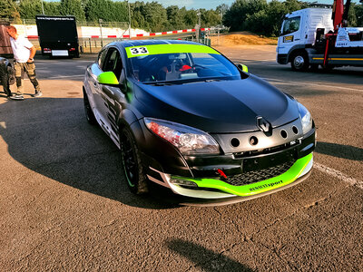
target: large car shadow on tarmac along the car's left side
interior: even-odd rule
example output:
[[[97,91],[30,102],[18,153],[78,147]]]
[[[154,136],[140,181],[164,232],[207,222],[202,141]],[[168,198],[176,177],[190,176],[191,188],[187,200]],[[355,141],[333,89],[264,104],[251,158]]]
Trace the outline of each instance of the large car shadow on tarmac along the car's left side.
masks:
[[[99,126],[86,121],[81,98],[2,102],[0,136],[14,160],[52,180],[133,207],[179,207],[161,201],[158,190],[152,191],[155,196],[130,192],[119,150]]]

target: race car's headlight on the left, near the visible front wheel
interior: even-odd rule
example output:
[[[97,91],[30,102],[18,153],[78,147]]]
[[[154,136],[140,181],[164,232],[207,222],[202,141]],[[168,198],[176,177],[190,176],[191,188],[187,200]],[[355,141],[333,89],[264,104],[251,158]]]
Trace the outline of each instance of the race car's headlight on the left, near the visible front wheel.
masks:
[[[143,121],[150,131],[171,142],[184,155],[220,153],[218,143],[204,131],[172,121],[153,118],[144,118]]]

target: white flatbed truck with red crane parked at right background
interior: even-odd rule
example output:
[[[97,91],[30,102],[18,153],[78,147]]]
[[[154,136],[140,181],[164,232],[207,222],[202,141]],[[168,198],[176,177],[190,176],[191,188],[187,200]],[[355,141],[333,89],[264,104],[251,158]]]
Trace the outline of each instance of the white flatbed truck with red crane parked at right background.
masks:
[[[305,8],[285,15],[277,62],[291,63],[294,71],[363,66],[363,28],[343,27],[343,15],[336,24],[332,13],[329,8]]]

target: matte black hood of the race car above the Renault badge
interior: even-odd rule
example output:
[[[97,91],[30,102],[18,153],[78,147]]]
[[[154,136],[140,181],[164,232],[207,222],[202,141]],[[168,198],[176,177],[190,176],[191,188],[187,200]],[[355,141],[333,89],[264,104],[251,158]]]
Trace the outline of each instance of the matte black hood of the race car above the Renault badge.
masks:
[[[257,131],[257,116],[278,127],[299,118],[296,102],[269,83],[246,79],[173,85],[135,84],[144,117],[212,133]]]

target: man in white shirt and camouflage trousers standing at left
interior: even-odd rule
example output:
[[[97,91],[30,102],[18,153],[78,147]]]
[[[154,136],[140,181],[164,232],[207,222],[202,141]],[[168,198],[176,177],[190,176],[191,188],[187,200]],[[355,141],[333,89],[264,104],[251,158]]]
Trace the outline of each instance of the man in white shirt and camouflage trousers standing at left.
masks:
[[[10,44],[15,58],[14,68],[17,92],[14,96],[11,96],[11,99],[24,100],[24,73],[27,73],[30,82],[34,85],[35,93],[33,94],[33,97],[42,96],[35,74],[34,55],[36,53],[36,49],[34,45],[31,44],[24,36],[17,34],[14,25],[7,26],[6,31],[10,36]]]

